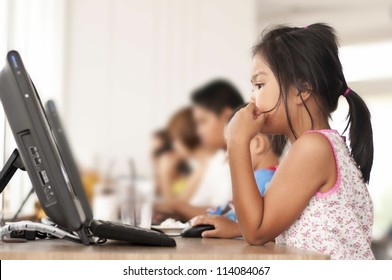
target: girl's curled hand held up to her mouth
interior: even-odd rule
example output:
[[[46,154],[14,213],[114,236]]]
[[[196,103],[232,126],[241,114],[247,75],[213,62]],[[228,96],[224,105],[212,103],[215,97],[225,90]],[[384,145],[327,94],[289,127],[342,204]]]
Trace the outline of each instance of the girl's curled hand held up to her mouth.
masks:
[[[265,114],[250,102],[246,107],[239,110],[227,126],[227,142],[250,142],[260,131],[264,122]]]

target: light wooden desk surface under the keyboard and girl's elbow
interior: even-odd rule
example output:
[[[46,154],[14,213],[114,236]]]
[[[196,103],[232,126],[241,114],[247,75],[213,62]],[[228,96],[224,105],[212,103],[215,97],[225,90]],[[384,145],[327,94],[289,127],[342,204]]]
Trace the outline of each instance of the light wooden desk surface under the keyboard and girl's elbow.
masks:
[[[176,238],[177,247],[130,246],[108,242],[84,246],[65,240],[36,240],[25,243],[0,241],[0,259],[329,259],[328,255],[281,244],[251,246],[244,240]]]

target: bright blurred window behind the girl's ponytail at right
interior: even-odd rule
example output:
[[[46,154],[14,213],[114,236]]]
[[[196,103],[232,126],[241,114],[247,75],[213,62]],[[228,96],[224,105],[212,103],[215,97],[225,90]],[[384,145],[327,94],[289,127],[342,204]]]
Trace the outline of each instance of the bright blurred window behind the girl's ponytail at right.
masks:
[[[391,88],[388,86],[392,80],[392,41],[342,47],[340,59],[348,85],[354,85],[353,89],[365,100],[372,114],[374,162],[369,192],[375,210],[373,234],[375,238],[379,238],[392,224],[392,212],[389,209],[392,203],[392,150],[387,124],[391,120],[392,108]],[[372,92],[363,92],[361,88],[355,88],[356,85],[361,85],[363,88],[371,89],[375,84],[377,90]],[[338,110],[333,114],[332,124],[340,132],[345,128],[347,112],[348,104],[341,98]]]

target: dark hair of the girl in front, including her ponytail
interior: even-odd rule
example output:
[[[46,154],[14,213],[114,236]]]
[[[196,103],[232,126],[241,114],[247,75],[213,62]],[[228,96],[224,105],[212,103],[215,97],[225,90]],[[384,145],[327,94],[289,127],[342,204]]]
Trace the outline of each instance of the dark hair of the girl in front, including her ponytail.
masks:
[[[267,31],[254,46],[253,55],[261,55],[280,86],[280,98],[276,107],[283,103],[291,132],[297,137],[288,112],[287,96],[290,86],[296,87],[299,96],[303,91],[314,94],[321,112],[326,118],[336,110],[338,100],[348,89],[338,55],[335,30],[322,23],[304,28],[278,26]],[[369,182],[373,165],[373,130],[370,112],[362,98],[353,90],[345,94],[349,104],[347,128],[351,155]],[[313,118],[307,110],[313,128]],[[272,109],[273,110],[273,109]]]

